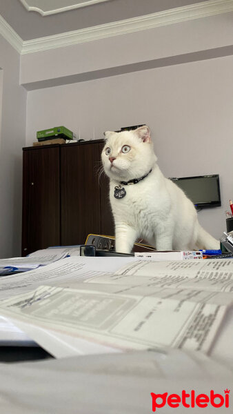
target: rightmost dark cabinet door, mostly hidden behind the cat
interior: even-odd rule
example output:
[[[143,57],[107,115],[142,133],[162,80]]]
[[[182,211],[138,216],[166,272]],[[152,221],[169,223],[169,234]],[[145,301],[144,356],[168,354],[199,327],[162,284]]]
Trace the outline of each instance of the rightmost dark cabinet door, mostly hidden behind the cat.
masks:
[[[103,146],[104,144],[99,144],[100,160]],[[109,199],[109,178],[104,172],[101,173],[99,179],[99,188],[101,193],[101,235],[114,236],[114,219]]]

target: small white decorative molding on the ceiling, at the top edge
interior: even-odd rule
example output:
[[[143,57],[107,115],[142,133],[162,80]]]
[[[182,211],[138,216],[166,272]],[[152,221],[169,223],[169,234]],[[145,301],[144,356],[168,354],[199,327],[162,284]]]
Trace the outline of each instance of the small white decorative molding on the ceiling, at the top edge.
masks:
[[[103,1],[109,0],[81,0],[76,1],[74,4],[70,4],[70,6],[63,6],[60,8],[56,8],[55,6],[48,6],[48,1],[45,2],[44,6],[36,6],[39,1],[37,0],[20,0],[23,6],[28,10],[28,12],[38,12],[41,16],[48,16],[49,14],[57,14],[61,12],[68,12],[69,10],[74,10],[77,8],[85,7],[85,6],[92,6],[92,4],[102,3]],[[73,3],[73,1],[70,1]]]

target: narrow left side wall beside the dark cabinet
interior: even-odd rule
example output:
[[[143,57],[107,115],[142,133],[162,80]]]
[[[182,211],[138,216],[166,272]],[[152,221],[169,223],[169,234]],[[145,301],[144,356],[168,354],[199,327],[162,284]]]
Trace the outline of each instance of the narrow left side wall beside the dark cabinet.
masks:
[[[0,36],[0,257],[21,255],[22,147],[26,141],[26,90],[19,86],[19,64],[19,53]]]

